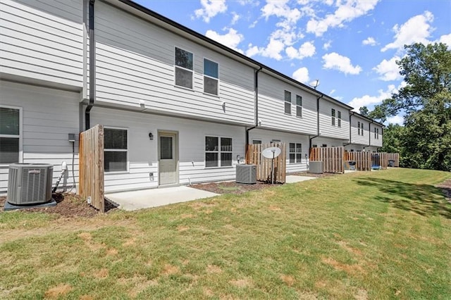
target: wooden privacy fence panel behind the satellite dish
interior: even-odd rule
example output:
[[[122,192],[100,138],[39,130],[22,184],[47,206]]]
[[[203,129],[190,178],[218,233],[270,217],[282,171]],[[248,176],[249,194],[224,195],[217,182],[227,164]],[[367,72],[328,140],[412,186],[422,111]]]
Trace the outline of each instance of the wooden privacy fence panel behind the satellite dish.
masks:
[[[269,147],[279,147],[281,152],[274,159],[274,182],[285,183],[287,151],[285,143],[248,144],[246,146],[246,163],[257,165],[257,180],[271,182],[271,161],[261,155],[261,151]]]

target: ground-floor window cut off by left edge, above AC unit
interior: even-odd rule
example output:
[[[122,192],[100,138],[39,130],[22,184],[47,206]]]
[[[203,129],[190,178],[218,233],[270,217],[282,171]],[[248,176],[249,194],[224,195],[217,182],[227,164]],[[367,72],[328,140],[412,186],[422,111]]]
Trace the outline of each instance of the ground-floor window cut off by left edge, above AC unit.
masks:
[[[0,106],[0,164],[20,162],[20,108]]]

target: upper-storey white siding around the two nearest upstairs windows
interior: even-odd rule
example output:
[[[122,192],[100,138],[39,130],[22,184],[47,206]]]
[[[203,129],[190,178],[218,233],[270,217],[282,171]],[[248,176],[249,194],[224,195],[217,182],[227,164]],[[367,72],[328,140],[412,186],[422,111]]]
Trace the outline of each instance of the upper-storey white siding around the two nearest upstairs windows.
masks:
[[[252,67],[104,1],[95,5],[97,104],[254,125]],[[192,89],[175,86],[175,47],[193,54]],[[204,92],[204,58],[220,66],[217,96]]]

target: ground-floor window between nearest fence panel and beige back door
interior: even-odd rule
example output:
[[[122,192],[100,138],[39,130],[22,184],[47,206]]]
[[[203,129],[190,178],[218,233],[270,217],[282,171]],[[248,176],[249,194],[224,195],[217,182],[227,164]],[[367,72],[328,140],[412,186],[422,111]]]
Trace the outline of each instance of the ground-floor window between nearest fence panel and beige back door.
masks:
[[[127,171],[128,130],[104,127],[105,172]]]

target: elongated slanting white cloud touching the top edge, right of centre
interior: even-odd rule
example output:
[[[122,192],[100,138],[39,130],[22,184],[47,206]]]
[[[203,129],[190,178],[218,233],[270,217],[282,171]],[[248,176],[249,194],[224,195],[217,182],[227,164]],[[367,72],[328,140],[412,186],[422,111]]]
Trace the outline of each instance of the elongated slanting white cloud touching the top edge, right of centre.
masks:
[[[378,0],[350,0],[342,4],[337,1],[337,10],[335,13],[326,15],[321,20],[311,19],[307,22],[307,32],[314,33],[316,37],[321,37],[329,27],[342,27],[343,23],[350,22],[355,18],[365,15],[378,3]]]

